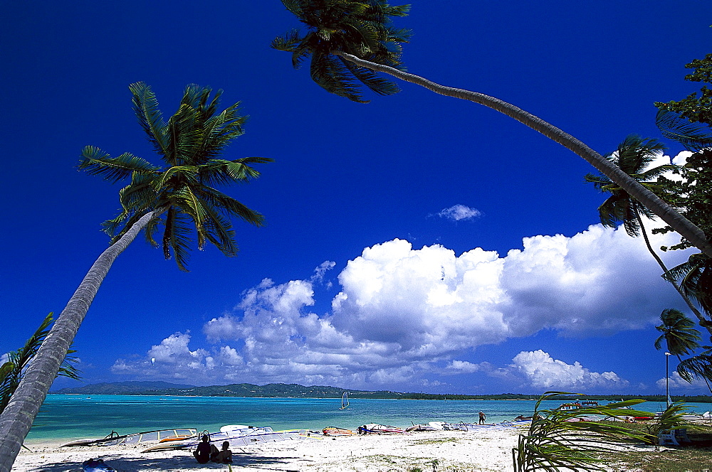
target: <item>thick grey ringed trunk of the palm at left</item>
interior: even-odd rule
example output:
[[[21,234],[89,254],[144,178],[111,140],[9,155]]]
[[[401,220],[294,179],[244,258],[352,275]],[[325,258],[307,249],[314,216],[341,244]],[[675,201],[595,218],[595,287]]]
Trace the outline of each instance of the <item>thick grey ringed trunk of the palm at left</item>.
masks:
[[[135,239],[140,230],[161,213],[162,210],[155,210],[144,215],[120,240],[108,247],[96,259],[52,326],[9,404],[0,414],[0,472],[9,472],[14,463],[25,436],[53,380],[57,377],[62,360],[111,264]]]

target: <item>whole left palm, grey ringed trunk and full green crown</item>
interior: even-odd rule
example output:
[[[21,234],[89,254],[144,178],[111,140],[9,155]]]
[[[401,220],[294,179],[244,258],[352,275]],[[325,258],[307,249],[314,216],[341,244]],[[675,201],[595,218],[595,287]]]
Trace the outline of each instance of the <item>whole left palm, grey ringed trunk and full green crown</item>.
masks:
[[[80,168],[108,181],[130,179],[130,183],[120,191],[122,212],[105,222],[112,244],[81,282],[0,414],[0,472],[9,471],[14,462],[112,262],[141,230],[156,245],[154,236],[162,225],[165,257],[174,257],[178,267],[187,270],[192,228],[197,247],[210,242],[234,256],[237,245],[231,219],[263,225],[262,215],[214,188],[256,178],[259,173],[251,165],[271,161],[219,159],[231,141],[243,134],[246,118],[239,114],[238,104],[219,112],[221,92],[211,98],[209,88],[189,85],[178,111],[165,122],[150,87],[137,82],[129,88],[138,120],[164,165],[155,166],[128,153],[112,158],[93,146],[84,149]]]

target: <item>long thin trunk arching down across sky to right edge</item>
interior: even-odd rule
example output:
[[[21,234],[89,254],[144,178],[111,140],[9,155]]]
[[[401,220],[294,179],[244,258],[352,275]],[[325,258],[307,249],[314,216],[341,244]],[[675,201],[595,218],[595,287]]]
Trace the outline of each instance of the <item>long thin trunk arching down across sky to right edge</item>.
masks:
[[[576,154],[588,161],[592,166],[597,168],[604,174],[604,176],[607,176],[609,179],[617,183],[624,191],[629,193],[629,195],[632,195],[633,198],[645,205],[646,208],[649,208],[649,210],[658,215],[676,232],[679,232],[682,237],[691,242],[694,246],[698,247],[699,250],[707,254],[709,257],[712,257],[712,243],[708,241],[708,238],[702,230],[696,227],[696,225],[693,225],[693,223],[687,220],[683,215],[676,212],[674,208],[658,198],[654,193],[644,188],[634,179],[630,178],[630,176],[628,176],[627,173],[622,171],[618,166],[615,166],[613,163],[608,161],[608,159],[605,159],[603,156],[583,144],[575,137],[562,132],[562,130],[553,126],[553,124],[545,122],[543,119],[535,117],[533,114],[525,112],[523,109],[515,107],[513,104],[504,102],[498,98],[490,97],[489,95],[484,95],[478,92],[470,92],[469,90],[454,87],[445,87],[444,85],[436,84],[435,82],[431,82],[430,80],[418,75],[405,73],[402,70],[397,70],[387,65],[372,63],[370,61],[357,58],[355,55],[343,53],[337,50],[333,50],[331,52],[345,58],[346,60],[349,60],[352,63],[355,63],[356,65],[360,65],[363,68],[376,70],[377,72],[392,75],[393,77],[405,80],[406,82],[421,85],[422,87],[432,90],[440,95],[446,95],[447,97],[455,97],[483,104],[486,107],[495,109],[498,112],[506,114],[508,117],[516,119],[518,122],[527,125],[531,129],[540,132],[549,139],[553,139],[553,141],[565,146],[567,149],[574,151]]]

